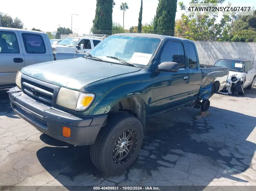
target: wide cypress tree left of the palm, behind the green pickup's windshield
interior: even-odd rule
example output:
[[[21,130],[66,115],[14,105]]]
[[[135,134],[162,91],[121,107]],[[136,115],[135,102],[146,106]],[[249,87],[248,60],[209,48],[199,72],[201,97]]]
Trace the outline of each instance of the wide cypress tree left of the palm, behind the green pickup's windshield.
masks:
[[[113,0],[97,0],[93,33],[110,34],[112,30]]]

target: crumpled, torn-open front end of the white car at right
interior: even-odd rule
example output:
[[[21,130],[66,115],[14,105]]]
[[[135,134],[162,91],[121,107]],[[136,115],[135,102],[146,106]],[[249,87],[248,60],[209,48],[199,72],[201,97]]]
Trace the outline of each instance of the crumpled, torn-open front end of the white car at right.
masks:
[[[245,74],[242,72],[232,72],[227,79],[226,86],[220,91],[222,94],[227,95],[244,95],[243,84],[245,80]]]

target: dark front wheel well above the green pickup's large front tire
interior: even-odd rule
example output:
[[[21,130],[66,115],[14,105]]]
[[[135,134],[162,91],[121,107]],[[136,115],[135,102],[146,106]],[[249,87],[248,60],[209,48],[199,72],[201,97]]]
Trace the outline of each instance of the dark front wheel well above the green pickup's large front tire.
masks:
[[[111,108],[109,114],[111,113],[129,113],[136,118],[138,118],[145,128],[146,121],[146,104],[144,100],[139,97],[128,97],[125,98],[118,103],[115,104],[114,107]]]

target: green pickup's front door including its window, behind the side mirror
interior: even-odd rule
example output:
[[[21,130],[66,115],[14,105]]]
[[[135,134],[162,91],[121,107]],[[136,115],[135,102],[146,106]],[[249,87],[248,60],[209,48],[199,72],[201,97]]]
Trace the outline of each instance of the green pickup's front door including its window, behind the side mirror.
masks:
[[[150,115],[179,107],[188,102],[190,70],[186,67],[183,44],[176,41],[166,42],[159,64],[162,62],[177,62],[179,71],[155,72]]]

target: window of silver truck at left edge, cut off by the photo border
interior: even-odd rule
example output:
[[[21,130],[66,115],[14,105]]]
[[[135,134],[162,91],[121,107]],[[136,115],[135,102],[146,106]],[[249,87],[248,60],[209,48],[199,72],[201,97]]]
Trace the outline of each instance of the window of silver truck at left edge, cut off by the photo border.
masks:
[[[10,31],[0,31],[0,54],[20,53],[16,34]]]

